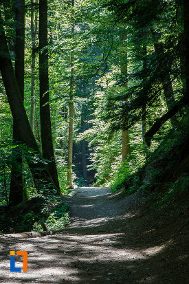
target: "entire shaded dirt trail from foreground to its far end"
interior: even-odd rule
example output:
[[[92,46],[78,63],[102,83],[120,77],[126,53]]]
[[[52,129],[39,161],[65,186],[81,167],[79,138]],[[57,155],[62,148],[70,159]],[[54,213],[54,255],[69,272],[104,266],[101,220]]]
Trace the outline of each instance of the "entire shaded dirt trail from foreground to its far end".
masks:
[[[154,217],[138,214],[137,193],[122,199],[109,188],[76,192],[65,197],[73,223],[63,233],[0,237],[0,283],[188,283],[186,231],[174,242],[172,224],[160,228]],[[10,250],[28,252],[27,272],[10,272]]]

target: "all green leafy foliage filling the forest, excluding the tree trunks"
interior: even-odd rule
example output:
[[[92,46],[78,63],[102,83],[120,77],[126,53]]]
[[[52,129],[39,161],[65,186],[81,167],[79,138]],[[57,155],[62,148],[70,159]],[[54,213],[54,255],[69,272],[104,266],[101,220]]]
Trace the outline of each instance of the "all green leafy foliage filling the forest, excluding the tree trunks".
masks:
[[[25,109],[31,111],[31,9],[26,1],[25,25]],[[111,190],[124,189],[127,193],[140,189],[159,190],[169,175],[179,146],[188,131],[186,107],[177,113],[178,127],[170,121],[162,125],[154,135],[151,149],[146,149],[142,140],[142,114],[146,109],[147,130],[164,115],[168,102],[164,94],[164,83],[173,87],[171,96],[180,100],[186,88],[184,74],[184,48],[186,35],[182,19],[181,1],[77,1],[74,19],[71,19],[69,1],[49,1],[49,94],[52,120],[52,135],[60,181],[60,189],[66,194],[67,188],[67,144],[70,91],[70,51],[74,48],[74,182],[87,186],[83,177],[82,142],[85,140],[85,161],[87,173],[96,172],[96,186],[110,186]],[[37,13],[36,13],[37,14]],[[14,40],[12,11],[7,6],[3,19],[8,18],[6,32]],[[38,19],[37,19],[38,21]],[[71,23],[74,21],[74,34]],[[155,35],[154,35],[155,31]],[[38,32],[38,30],[36,30]],[[127,39],[120,40],[127,33]],[[155,51],[154,43],[162,44],[161,52]],[[11,50],[11,43],[10,50]],[[36,36],[35,89],[38,93],[38,36]],[[144,47],[146,52],[144,52]],[[124,54],[123,54],[124,52]],[[127,54],[126,54],[127,53]],[[125,55],[127,70],[122,72],[121,58]],[[14,57],[14,56],[13,56]],[[14,60],[13,60],[14,63]],[[170,83],[168,83],[170,76]],[[161,78],[165,81],[162,84]],[[125,83],[128,83],[127,87]],[[36,96],[34,135],[40,142],[40,110]],[[10,171],[16,159],[12,149],[12,116],[5,89],[0,78],[0,204],[8,204]],[[186,117],[185,117],[186,116]],[[123,118],[128,120],[131,154],[122,163]],[[23,152],[24,199],[36,196],[30,168],[27,163],[49,161],[19,144]],[[176,149],[176,150],[175,150]],[[14,153],[16,153],[14,151]],[[21,168],[18,168],[21,170]],[[91,172],[90,172],[91,171]],[[93,180],[93,174],[91,174]],[[185,179],[184,179],[185,178]],[[164,201],[183,192],[187,187],[186,176],[175,184],[169,184],[170,193]],[[176,189],[177,188],[177,189]],[[38,192],[49,195],[49,188],[38,188]],[[155,198],[158,194],[153,193]],[[46,197],[47,198],[47,197]],[[48,197],[50,205],[42,204],[41,212],[24,212],[21,219],[11,225],[10,231],[38,228],[40,221],[47,222],[48,228],[60,228],[67,222],[67,209],[58,205],[54,195]],[[56,206],[53,204],[56,203]],[[44,206],[43,206],[44,205]],[[59,207],[58,207],[59,206]],[[19,207],[17,208],[19,210]],[[16,210],[17,210],[16,209]],[[12,209],[10,209],[12,212]],[[63,214],[62,214],[63,212]],[[6,216],[6,215],[5,215]],[[2,217],[5,223],[5,217]],[[45,219],[43,219],[45,218]],[[17,225],[17,223],[19,225]]]

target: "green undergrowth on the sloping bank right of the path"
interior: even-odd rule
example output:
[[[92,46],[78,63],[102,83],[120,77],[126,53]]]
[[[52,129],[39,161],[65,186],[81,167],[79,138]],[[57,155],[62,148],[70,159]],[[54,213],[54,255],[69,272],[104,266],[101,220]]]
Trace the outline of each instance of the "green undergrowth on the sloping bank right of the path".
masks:
[[[174,179],[171,174],[175,165],[178,164],[180,149],[184,142],[186,143],[188,140],[187,133],[185,124],[179,125],[179,129],[170,129],[155,151],[146,152],[146,162],[144,162],[144,153],[143,155],[131,154],[124,164],[120,164],[113,176],[109,184],[111,190],[122,190],[126,194],[140,190],[144,195],[148,196],[152,192],[156,194],[159,190],[165,192],[168,186],[173,190],[165,199],[176,194],[177,190],[175,188],[178,188],[178,185],[175,180],[179,177]],[[183,173],[188,173],[185,168]],[[188,174],[184,174],[180,180],[178,179],[178,184],[181,183],[182,188],[187,184],[187,177]]]

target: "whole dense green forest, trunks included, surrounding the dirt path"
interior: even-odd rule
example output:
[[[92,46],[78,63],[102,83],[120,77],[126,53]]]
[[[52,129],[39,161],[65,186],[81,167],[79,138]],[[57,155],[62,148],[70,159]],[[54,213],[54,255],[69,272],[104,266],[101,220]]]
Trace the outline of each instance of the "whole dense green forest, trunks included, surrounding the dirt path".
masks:
[[[1,0],[0,71],[0,234],[62,229],[74,188],[187,200],[187,0]]]

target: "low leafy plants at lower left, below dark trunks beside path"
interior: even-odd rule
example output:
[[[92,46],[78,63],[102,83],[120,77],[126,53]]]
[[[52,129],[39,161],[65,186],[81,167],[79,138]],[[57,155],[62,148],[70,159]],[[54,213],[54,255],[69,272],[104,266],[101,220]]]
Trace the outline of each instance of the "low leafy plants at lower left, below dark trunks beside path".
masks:
[[[40,229],[45,222],[49,230],[63,229],[69,222],[69,206],[60,197],[38,195],[10,208],[0,207],[1,232],[28,232]],[[41,229],[40,229],[41,230]]]

